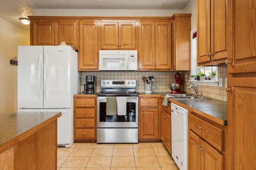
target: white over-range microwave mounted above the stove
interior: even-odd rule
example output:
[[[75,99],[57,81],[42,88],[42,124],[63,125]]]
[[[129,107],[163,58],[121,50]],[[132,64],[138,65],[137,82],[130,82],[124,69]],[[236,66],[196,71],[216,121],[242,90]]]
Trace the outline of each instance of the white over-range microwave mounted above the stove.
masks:
[[[137,50],[100,50],[99,70],[137,70]]]

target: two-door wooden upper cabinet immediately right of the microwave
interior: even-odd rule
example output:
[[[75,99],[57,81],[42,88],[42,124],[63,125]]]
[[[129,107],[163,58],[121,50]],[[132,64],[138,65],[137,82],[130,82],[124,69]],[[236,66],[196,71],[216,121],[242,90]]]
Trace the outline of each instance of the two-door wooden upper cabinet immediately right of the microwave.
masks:
[[[139,22],[139,70],[170,70],[171,23],[167,21]]]

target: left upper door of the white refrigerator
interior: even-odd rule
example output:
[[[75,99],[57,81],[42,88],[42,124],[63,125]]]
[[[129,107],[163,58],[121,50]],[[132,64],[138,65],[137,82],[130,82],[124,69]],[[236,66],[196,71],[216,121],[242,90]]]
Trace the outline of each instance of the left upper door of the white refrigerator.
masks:
[[[43,107],[43,46],[18,46],[18,108]]]

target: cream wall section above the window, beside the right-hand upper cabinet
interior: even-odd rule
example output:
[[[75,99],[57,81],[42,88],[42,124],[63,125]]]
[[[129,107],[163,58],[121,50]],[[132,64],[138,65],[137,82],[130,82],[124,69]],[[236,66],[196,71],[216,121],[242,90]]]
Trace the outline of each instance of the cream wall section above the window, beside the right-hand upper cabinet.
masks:
[[[196,27],[196,0],[190,2],[183,9],[184,14],[192,14],[191,16],[191,30]]]

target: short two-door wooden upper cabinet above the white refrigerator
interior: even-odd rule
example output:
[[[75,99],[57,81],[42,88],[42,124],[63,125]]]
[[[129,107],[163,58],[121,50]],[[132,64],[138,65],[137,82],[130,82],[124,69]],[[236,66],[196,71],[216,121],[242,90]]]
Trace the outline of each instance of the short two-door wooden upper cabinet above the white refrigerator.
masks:
[[[67,45],[76,46],[76,20],[32,21],[30,31],[31,45]]]

